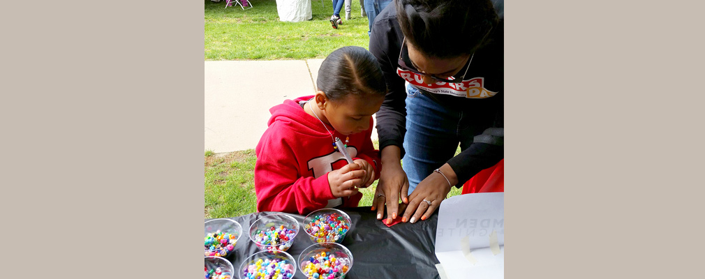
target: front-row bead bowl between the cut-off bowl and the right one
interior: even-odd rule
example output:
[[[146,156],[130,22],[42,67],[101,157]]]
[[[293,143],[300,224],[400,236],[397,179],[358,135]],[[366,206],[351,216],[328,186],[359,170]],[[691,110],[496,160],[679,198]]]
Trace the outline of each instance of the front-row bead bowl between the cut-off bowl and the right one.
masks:
[[[260,251],[240,265],[240,279],[290,279],[296,273],[293,256],[281,251]]]

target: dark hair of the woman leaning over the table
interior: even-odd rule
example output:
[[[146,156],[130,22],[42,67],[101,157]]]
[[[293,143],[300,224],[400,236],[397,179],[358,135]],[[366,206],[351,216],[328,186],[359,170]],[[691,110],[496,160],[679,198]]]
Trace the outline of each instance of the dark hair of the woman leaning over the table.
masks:
[[[499,17],[489,0],[396,0],[407,42],[422,54],[452,58],[472,54]]]

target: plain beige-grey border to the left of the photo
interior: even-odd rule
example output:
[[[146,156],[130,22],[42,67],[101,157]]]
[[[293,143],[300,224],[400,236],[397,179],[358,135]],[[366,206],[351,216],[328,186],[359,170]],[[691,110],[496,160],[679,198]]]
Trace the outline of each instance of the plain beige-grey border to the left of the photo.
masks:
[[[203,276],[203,11],[3,4],[0,278]]]

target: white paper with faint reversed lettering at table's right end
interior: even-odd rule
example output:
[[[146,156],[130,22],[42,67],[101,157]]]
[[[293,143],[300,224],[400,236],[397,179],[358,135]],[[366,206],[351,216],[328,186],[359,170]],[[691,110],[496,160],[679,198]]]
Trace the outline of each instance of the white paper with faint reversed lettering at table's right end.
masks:
[[[475,193],[441,203],[436,257],[448,279],[504,278],[504,193]]]

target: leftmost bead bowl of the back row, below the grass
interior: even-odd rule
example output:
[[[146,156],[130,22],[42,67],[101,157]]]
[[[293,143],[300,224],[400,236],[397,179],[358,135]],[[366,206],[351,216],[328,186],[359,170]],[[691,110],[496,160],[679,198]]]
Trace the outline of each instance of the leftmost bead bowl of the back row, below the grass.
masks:
[[[213,219],[204,223],[205,256],[226,257],[233,253],[243,235],[243,226],[231,219]]]

